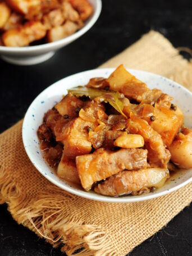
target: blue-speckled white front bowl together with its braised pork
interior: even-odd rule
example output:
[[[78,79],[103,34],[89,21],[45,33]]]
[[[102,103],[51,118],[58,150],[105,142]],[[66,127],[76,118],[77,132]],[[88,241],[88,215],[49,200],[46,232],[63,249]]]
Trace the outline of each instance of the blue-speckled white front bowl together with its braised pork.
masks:
[[[122,66],[111,75],[112,71],[93,70],[67,77],[34,100],[23,125],[24,145],[31,161],[47,179],[61,188],[105,202],[146,200],[185,185],[192,176],[191,155],[189,150],[186,151],[191,145],[190,131],[181,127],[184,116],[185,125],[191,126],[191,93],[171,80],[148,72],[130,71],[141,82]],[[73,88],[86,84],[106,90]],[[67,94],[66,89],[70,89],[70,94],[62,98]],[[168,94],[176,102],[171,103]],[[114,95],[118,97],[114,98]],[[53,109],[48,111],[50,108]],[[40,141],[35,132],[43,116],[44,124],[38,134],[44,152],[40,152]],[[167,148],[181,139],[188,141],[187,147],[180,148],[182,153],[188,153],[188,166],[183,166],[172,153],[172,157],[177,157],[176,162],[173,158],[172,161],[181,167],[176,168],[169,163],[171,154]],[[51,149],[49,143],[53,143]],[[51,160],[49,164],[53,167],[43,157]],[[185,167],[189,169],[184,170]]]

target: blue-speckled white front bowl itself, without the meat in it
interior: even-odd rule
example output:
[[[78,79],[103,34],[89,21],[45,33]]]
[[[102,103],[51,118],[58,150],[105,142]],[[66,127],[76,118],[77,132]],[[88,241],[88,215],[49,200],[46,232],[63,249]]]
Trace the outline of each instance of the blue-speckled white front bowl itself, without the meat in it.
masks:
[[[44,161],[39,149],[39,140],[36,135],[36,130],[39,125],[42,124],[44,113],[48,109],[52,108],[57,102],[62,99],[63,94],[67,94],[67,89],[77,85],[85,85],[92,77],[108,77],[113,68],[104,68],[97,70],[90,70],[68,76],[57,83],[49,86],[31,103],[24,118],[24,124],[22,126],[22,139],[24,141],[24,147],[31,162],[39,170],[42,175],[47,178],[53,184],[60,188],[67,190],[72,194],[83,196],[92,200],[98,200],[103,202],[137,202],[156,198],[157,196],[168,194],[192,181],[192,169],[179,170],[177,173],[171,176],[166,184],[157,191],[140,196],[121,196],[119,198],[112,198],[109,196],[103,196],[94,193],[94,191],[86,192],[81,186],[70,184],[67,181],[63,181],[57,177],[54,170],[48,166]],[[138,77],[141,81],[147,83],[149,88],[157,88],[163,90],[163,92],[170,94],[174,97],[175,102],[182,110],[185,116],[185,125],[192,128],[192,93],[185,89],[183,86],[166,79],[165,77],[151,74],[149,72],[139,70],[129,70],[133,75]]]

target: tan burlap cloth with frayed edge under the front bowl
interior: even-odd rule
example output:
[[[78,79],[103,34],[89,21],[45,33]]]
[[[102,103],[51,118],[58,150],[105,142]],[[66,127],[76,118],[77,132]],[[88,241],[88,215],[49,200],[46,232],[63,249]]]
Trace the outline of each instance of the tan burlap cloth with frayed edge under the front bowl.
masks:
[[[101,67],[126,67],[161,74],[192,89],[192,65],[161,34],[150,31]],[[67,255],[123,256],[166,225],[192,200],[192,184],[138,203],[100,203],[57,188],[31,164],[21,139],[22,121],[0,135],[0,202],[12,217],[61,245]]]

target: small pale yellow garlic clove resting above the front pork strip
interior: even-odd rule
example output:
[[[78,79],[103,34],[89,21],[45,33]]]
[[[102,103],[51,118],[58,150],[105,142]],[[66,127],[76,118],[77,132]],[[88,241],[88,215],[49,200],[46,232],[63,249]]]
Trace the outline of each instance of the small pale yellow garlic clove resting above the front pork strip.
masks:
[[[144,139],[139,134],[127,134],[125,131],[114,141],[114,145],[120,148],[141,148],[144,146]]]

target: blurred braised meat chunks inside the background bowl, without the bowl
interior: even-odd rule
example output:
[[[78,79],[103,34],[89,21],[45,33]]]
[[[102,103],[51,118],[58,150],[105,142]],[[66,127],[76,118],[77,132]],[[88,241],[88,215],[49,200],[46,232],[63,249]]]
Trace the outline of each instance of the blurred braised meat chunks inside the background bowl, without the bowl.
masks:
[[[83,28],[93,7],[88,0],[8,0],[0,3],[0,12],[2,44],[24,47],[40,39],[50,43],[74,34]]]

